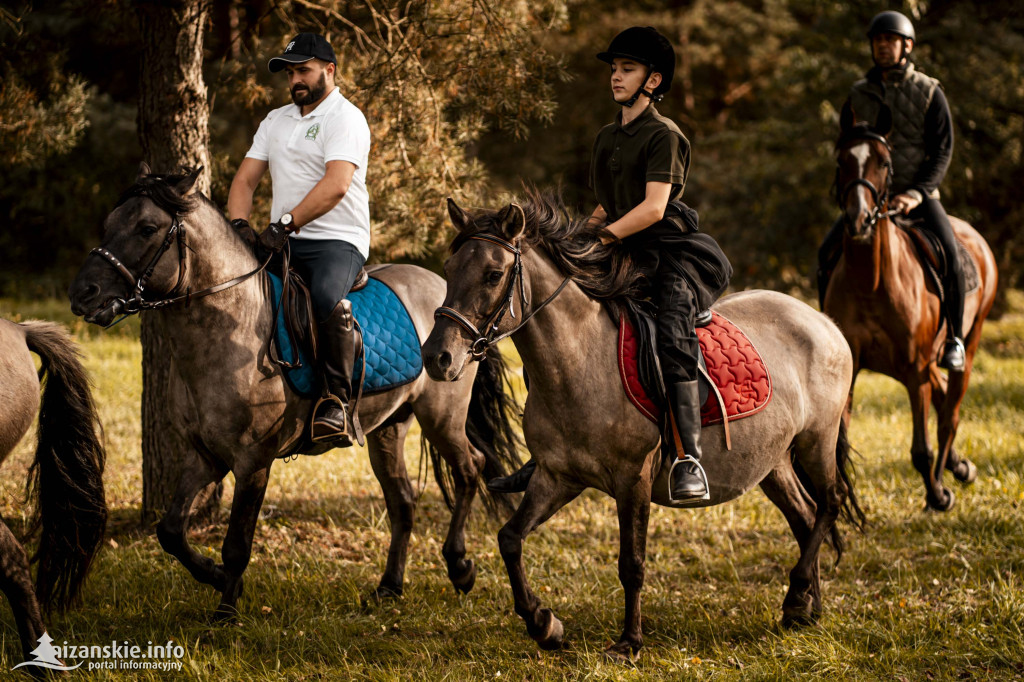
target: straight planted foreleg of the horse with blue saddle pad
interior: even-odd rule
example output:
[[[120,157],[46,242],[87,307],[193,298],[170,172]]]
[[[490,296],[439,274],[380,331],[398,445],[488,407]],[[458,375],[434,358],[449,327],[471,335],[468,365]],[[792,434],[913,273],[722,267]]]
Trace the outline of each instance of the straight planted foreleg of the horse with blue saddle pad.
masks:
[[[237,604],[242,595],[242,574],[252,557],[253,534],[263,496],[270,479],[270,463],[252,470],[234,472],[234,497],[231,499],[231,517],[220,555],[225,573],[224,589],[217,605],[218,617],[232,617],[238,613]]]

